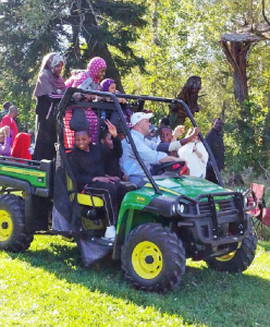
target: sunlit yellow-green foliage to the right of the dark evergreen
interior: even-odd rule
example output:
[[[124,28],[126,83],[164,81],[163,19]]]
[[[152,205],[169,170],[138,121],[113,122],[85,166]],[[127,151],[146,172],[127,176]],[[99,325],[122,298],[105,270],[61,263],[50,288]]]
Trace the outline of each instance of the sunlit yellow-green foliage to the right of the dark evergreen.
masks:
[[[183,0],[180,4],[170,0],[148,1],[148,4],[151,24],[136,43],[136,50],[147,59],[148,74],[140,75],[134,70],[124,80],[127,92],[175,97],[187,77],[199,75],[202,80],[199,94],[204,97],[198,99],[201,111],[195,118],[204,134],[211,128],[213,118],[224,120],[226,167],[235,165],[235,169],[241,170],[248,165],[257,167],[258,160],[266,164],[270,149],[267,142],[270,135],[267,123],[270,41],[256,44],[248,53],[250,98],[245,104],[245,118],[243,108],[234,99],[233,77],[219,45],[221,34],[261,22],[260,3]],[[150,109],[158,117],[169,113],[167,107]],[[243,134],[238,133],[241,120],[246,129]]]

